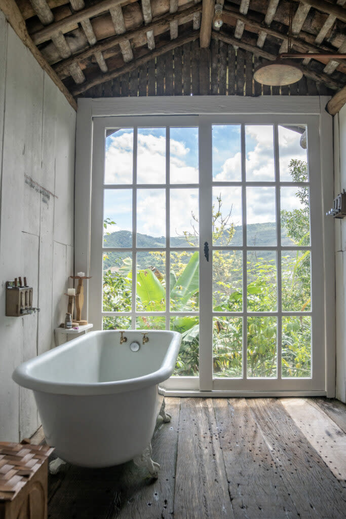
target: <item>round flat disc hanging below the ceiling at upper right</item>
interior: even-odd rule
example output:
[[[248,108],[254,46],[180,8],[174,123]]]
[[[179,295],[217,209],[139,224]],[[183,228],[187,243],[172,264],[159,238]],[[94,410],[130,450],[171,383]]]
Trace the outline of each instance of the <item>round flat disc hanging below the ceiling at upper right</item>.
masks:
[[[300,68],[288,61],[274,61],[266,65],[260,65],[254,72],[254,79],[262,85],[281,87],[296,83],[303,76]]]

